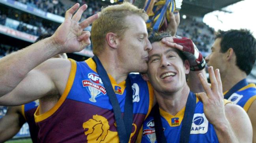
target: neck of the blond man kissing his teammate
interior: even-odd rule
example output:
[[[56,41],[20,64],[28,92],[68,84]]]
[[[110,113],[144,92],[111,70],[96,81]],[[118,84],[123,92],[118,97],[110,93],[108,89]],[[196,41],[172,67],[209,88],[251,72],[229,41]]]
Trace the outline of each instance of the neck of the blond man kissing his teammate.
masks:
[[[120,83],[127,78],[129,71],[125,69],[125,63],[121,63],[116,55],[105,54],[99,55],[98,58],[107,73],[114,78],[116,83]]]

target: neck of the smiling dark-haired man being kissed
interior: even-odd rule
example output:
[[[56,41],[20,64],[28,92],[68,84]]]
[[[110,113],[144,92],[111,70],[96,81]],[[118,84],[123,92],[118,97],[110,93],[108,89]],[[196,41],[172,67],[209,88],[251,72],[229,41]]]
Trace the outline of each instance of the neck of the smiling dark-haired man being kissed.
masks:
[[[154,90],[159,107],[171,115],[176,115],[185,107],[189,91],[187,85],[183,89],[173,93],[160,93]]]

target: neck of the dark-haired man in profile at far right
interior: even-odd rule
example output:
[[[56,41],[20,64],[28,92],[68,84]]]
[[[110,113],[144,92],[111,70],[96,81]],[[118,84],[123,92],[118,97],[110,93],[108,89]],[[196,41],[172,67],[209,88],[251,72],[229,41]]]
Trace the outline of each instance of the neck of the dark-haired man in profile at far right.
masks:
[[[223,92],[230,90],[232,87],[234,87],[235,84],[247,77],[246,73],[241,71],[237,66],[228,68],[227,71],[221,73],[220,76]]]

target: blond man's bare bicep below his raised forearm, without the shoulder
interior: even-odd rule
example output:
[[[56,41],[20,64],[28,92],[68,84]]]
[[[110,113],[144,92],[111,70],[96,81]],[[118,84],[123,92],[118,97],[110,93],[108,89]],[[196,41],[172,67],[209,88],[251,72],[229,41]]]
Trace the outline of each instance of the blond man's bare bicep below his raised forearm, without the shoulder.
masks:
[[[50,76],[34,69],[13,89],[0,98],[0,105],[14,106],[28,103],[54,92],[55,85]]]

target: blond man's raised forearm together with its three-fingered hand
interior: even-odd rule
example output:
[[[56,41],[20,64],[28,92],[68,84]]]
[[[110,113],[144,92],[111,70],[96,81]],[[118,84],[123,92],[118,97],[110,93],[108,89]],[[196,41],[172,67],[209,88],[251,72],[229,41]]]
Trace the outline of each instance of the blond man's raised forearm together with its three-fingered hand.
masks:
[[[50,38],[0,59],[0,96],[12,91],[29,71],[45,60],[56,54],[81,51],[90,44],[90,32],[83,29],[90,25],[98,14],[78,23],[87,5],[82,5],[79,9],[78,7],[79,4],[75,4],[67,10],[64,22]]]

